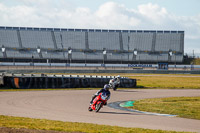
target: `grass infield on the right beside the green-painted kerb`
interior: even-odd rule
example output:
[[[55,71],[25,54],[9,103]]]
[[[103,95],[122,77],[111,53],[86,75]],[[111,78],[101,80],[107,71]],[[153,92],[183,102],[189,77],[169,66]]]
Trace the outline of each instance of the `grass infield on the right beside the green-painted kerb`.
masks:
[[[143,99],[135,101],[134,106],[131,108],[200,120],[200,97]]]

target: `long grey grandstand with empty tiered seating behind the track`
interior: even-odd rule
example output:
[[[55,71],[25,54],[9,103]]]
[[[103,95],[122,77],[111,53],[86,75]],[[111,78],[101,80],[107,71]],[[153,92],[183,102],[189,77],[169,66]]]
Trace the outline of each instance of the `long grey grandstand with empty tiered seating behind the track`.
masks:
[[[184,31],[0,27],[0,61],[182,62]]]

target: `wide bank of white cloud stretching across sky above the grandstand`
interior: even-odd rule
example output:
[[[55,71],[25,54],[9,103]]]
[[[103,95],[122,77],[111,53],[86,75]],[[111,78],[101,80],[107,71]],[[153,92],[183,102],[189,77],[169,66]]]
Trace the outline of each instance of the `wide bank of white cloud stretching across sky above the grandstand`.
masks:
[[[15,0],[16,6],[0,3],[0,25],[27,27],[184,30],[185,49],[200,49],[200,14],[177,16],[158,4],[127,8],[106,2],[95,11],[75,7],[66,0]],[[73,8],[74,7],[74,8]],[[199,50],[200,52],[200,50]]]

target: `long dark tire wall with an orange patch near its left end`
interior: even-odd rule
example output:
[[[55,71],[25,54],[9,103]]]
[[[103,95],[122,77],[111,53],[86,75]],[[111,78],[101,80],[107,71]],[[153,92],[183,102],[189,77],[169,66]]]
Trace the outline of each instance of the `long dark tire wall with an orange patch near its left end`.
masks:
[[[103,88],[110,78],[83,77],[12,77],[4,76],[4,87],[14,89]],[[120,88],[136,87],[136,79],[122,78]]]

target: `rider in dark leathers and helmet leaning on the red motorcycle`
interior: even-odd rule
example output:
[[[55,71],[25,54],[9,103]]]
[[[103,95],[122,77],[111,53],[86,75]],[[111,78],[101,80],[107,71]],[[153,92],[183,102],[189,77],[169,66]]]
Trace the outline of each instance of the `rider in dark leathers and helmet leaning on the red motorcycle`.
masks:
[[[97,97],[102,92],[105,92],[106,95],[108,96],[107,100],[110,99],[110,91],[109,91],[109,89],[110,89],[110,85],[109,84],[105,84],[104,88],[102,88],[101,90],[97,91],[97,93],[92,96],[92,100],[90,101],[90,105],[93,103],[93,100],[95,99],[95,97]],[[105,105],[107,105],[107,102],[105,103]]]

